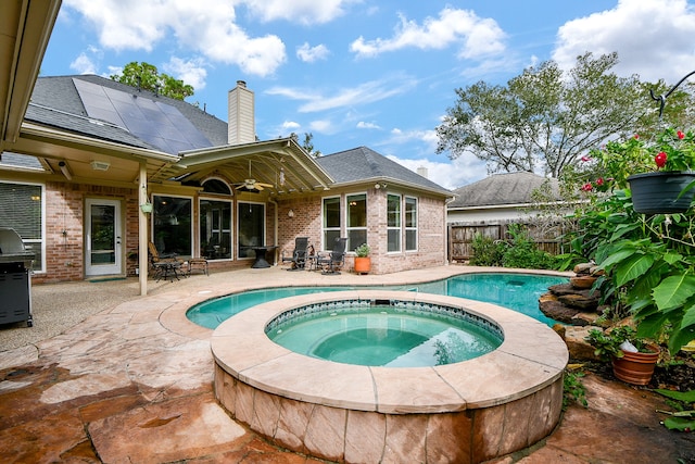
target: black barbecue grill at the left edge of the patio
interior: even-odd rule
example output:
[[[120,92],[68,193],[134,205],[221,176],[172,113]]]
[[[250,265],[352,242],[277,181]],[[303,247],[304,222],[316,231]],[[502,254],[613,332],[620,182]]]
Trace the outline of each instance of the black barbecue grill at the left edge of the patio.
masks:
[[[26,321],[31,327],[31,263],[35,254],[24,249],[22,237],[0,227],[0,324]]]

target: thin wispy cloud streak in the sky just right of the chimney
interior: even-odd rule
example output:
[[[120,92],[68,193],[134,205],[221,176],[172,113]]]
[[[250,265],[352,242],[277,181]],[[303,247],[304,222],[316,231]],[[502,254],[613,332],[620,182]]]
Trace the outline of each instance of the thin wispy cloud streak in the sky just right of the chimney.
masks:
[[[392,79],[370,80],[357,87],[338,89],[333,95],[323,95],[316,90],[301,90],[289,87],[273,87],[266,90],[266,93],[283,96],[292,100],[306,101],[306,103],[300,105],[298,111],[301,113],[312,113],[336,108],[374,103],[375,101],[405,93],[414,88],[415,85],[415,79],[404,76]]]

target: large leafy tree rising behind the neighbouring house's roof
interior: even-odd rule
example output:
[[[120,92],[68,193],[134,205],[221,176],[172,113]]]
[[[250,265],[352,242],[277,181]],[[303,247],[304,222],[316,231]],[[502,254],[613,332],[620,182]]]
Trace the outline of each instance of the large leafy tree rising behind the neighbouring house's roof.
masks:
[[[567,72],[547,61],[506,86],[479,81],[456,89],[456,104],[437,127],[437,151],[472,153],[489,172],[542,168],[559,177],[590,148],[632,130],[647,111],[639,78],[610,73],[617,63],[617,53],[585,53]]]

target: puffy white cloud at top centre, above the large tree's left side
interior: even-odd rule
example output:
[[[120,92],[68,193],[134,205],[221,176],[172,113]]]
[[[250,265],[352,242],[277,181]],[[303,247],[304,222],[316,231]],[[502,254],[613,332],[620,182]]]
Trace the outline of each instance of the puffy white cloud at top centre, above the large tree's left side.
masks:
[[[422,25],[400,15],[401,24],[391,38],[365,40],[359,37],[350,46],[357,57],[376,57],[405,48],[444,49],[452,43],[460,47],[459,58],[475,59],[505,49],[505,34],[492,18],[480,18],[469,10],[445,8],[439,18],[427,17]]]

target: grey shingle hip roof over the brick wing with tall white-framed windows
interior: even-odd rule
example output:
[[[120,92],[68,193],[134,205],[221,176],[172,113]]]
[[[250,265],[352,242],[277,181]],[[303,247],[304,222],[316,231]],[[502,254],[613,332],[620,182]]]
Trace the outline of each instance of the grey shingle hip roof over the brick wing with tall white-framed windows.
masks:
[[[429,180],[380,153],[358,147],[316,159],[337,185],[364,181],[395,181],[412,187],[451,195],[451,190]]]

